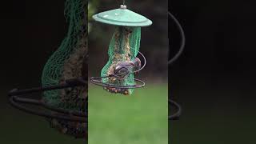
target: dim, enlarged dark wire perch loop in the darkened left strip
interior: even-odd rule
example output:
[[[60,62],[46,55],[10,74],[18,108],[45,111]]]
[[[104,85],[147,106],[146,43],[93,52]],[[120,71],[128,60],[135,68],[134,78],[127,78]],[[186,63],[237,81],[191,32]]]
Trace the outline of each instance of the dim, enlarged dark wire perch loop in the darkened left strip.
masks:
[[[22,95],[26,94],[33,94],[38,92],[43,92],[46,90],[59,90],[59,89],[66,89],[66,88],[72,88],[76,86],[85,86],[87,82],[82,78],[74,78],[66,80],[66,83],[57,85],[57,86],[44,86],[44,87],[35,87],[31,89],[26,90],[10,90],[8,93],[9,96],[9,102],[12,106],[19,110],[23,110],[29,114],[35,114],[41,117],[45,118],[56,118],[56,119],[62,119],[70,122],[85,122],[87,123],[87,114],[83,112],[77,112],[72,110],[65,110],[62,108],[56,108],[54,106],[49,106],[44,102],[42,99],[37,100],[33,98],[24,98],[21,97]],[[26,106],[23,106],[23,104],[30,104],[34,106],[41,106],[47,110],[50,110],[52,113],[46,113],[42,111],[33,110],[31,108],[28,108]],[[56,113],[56,114],[55,114]]]

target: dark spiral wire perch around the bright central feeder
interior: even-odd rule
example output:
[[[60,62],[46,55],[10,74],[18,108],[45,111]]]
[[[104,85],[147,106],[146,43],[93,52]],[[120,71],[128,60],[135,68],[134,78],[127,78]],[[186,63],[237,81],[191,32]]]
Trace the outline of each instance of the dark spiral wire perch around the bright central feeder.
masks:
[[[109,74],[109,75],[106,75],[104,77],[92,77],[92,78],[90,78],[90,82],[92,82],[92,83],[94,83],[95,85],[98,85],[98,86],[111,87],[111,88],[120,88],[120,89],[136,89],[136,88],[140,88],[140,87],[145,86],[145,82],[143,82],[142,80],[137,79],[137,78],[134,78],[134,81],[135,82],[140,82],[141,85],[136,84],[136,85],[133,85],[133,86],[118,86],[118,85],[113,85],[113,84],[102,82],[102,78],[112,78],[112,77],[114,77],[114,78],[124,78],[129,74],[138,73],[140,70],[144,69],[144,67],[146,66],[146,58],[139,51],[138,51],[138,54],[140,54],[142,56],[143,61],[144,61],[144,64],[140,69],[131,71],[131,72],[126,73],[126,74]],[[122,68],[125,68],[125,67],[122,67]]]

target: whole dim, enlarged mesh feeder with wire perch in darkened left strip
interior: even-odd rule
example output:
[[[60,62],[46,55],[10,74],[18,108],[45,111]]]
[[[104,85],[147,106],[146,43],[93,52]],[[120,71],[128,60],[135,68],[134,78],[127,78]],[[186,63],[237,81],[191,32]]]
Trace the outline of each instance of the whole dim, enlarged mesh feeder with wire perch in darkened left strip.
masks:
[[[46,117],[62,134],[86,138],[87,134],[87,2],[66,0],[69,22],[66,38],[46,62],[42,86],[11,90],[10,103],[30,114]],[[23,95],[42,92],[42,98]],[[43,110],[25,104],[36,105]]]

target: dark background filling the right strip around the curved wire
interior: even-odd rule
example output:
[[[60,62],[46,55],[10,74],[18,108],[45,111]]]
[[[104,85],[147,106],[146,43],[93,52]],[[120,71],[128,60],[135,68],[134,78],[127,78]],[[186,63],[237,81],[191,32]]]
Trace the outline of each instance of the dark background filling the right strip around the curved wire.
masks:
[[[186,50],[170,67],[169,93],[182,105],[170,143],[255,143],[255,2],[172,1]],[[170,22],[170,55],[178,32]]]

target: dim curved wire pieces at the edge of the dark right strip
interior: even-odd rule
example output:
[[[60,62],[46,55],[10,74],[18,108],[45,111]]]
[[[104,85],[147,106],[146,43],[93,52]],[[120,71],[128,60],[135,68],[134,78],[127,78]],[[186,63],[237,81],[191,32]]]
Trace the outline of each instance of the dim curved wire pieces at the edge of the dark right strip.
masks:
[[[171,66],[181,56],[182,52],[184,51],[186,38],[185,38],[184,30],[182,29],[182,26],[178,22],[177,18],[175,18],[174,15],[170,13],[170,11],[168,11],[168,15],[174,21],[174,23],[178,27],[179,33],[181,34],[180,48],[178,50],[178,53],[175,54],[174,57],[168,61],[168,66]],[[169,120],[177,120],[180,117],[180,115],[182,114],[182,107],[177,102],[174,102],[171,99],[168,100],[168,103],[170,105],[173,105],[177,109],[177,111],[174,114],[171,114],[168,116],[168,119]]]

